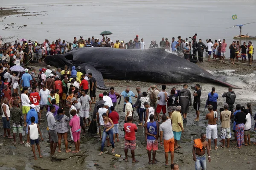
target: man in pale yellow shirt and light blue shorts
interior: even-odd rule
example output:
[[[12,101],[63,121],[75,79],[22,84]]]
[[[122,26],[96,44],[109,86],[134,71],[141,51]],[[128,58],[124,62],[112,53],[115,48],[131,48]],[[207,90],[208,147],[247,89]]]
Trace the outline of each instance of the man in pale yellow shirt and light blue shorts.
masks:
[[[181,146],[178,145],[178,141],[181,137],[181,132],[184,132],[183,129],[183,120],[181,116],[181,106],[176,107],[176,111],[172,112],[171,121],[172,121],[172,132],[174,135],[174,149],[180,150]]]

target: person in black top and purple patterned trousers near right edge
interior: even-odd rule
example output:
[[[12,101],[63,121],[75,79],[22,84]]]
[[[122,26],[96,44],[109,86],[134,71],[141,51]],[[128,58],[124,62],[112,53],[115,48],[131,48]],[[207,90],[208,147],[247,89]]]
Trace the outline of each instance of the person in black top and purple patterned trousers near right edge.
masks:
[[[242,106],[243,109],[244,106]],[[236,148],[241,149],[242,143],[244,143],[244,124],[246,122],[246,114],[244,112],[237,112],[234,118],[236,122]]]

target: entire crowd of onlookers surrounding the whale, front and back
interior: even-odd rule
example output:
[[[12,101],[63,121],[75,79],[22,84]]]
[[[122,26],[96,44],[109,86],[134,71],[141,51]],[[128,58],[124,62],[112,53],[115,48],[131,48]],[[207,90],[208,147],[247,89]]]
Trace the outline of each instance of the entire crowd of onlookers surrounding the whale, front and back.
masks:
[[[94,37],[92,40],[94,40]],[[73,48],[79,48],[81,46],[85,47],[85,42],[88,43],[92,40],[83,40],[83,37],[81,37],[81,39],[78,41],[78,47],[74,47],[74,44],[77,44],[75,43],[75,37],[73,44],[70,44],[73,45]],[[98,43],[97,40],[97,46],[104,47],[105,43],[109,43],[109,40],[105,41],[105,37],[103,36],[101,42]],[[181,40],[180,37],[179,40]],[[192,44],[201,44],[202,48],[206,47],[201,40],[196,43],[196,35],[192,38],[192,40]],[[130,40],[130,42],[131,41],[132,40]],[[173,38],[172,43],[174,43],[175,46],[170,46],[168,39],[164,41],[163,38],[163,40],[160,42],[160,47],[163,47],[163,44],[165,44],[169,45],[169,50],[170,47],[172,47],[172,51],[180,51],[180,49],[182,51],[184,44],[178,47],[179,43],[174,41],[175,39]],[[41,50],[44,49],[44,55],[43,52],[42,55],[41,52],[39,52],[40,55],[38,55],[37,51],[36,58],[39,59],[39,62],[43,61],[40,60],[42,59],[42,56],[50,54],[63,54],[66,52],[65,41],[62,42],[62,45],[59,43],[61,42],[60,39],[56,42],[57,44],[52,42],[52,46],[55,46],[55,48],[51,48],[49,51],[47,48],[44,49],[44,45],[48,43],[48,40],[46,40],[42,45],[40,45],[37,41],[36,45],[32,43],[32,51],[34,51],[36,49],[35,47],[37,46],[39,46]],[[95,42],[96,39],[94,40],[93,44]],[[137,42],[138,36],[134,39],[134,42],[131,42],[131,44],[135,43],[134,48],[141,49],[141,45],[138,46]],[[208,43],[211,43],[210,39]],[[47,68],[40,68],[38,70],[39,72],[35,68],[32,68],[31,70],[26,68],[24,72],[11,72],[9,70],[9,65],[13,66],[15,65],[14,63],[18,64],[22,62],[25,64],[25,62],[29,61],[29,53],[31,52],[29,49],[29,44],[31,44],[31,41],[25,42],[21,45],[18,43],[13,45],[16,47],[15,49],[18,49],[19,55],[16,56],[17,51],[13,50],[13,55],[11,55],[10,58],[7,57],[7,52],[9,53],[10,49],[12,50],[14,47],[12,47],[12,45],[11,47],[9,47],[10,45],[8,47],[6,45],[2,47],[2,50],[3,48],[5,49],[7,47],[1,56],[2,60],[5,60],[5,62],[0,63],[0,94],[4,130],[3,137],[13,138],[13,144],[16,145],[16,133],[18,133],[20,144],[27,143],[32,146],[32,152],[35,156],[35,160],[37,159],[35,154],[35,144],[37,145],[39,156],[42,157],[39,145],[39,135],[41,136],[41,140],[44,140],[41,135],[40,124],[42,119],[45,117],[43,112],[46,111],[51,155],[55,153],[57,146],[57,151],[59,153],[62,151],[62,136],[65,144],[65,152],[79,153],[81,150],[80,136],[86,132],[86,127],[89,127],[88,131],[90,133],[97,133],[99,131],[100,140],[102,141],[99,156],[104,154],[105,141],[107,141],[107,146],[112,146],[111,153],[115,153],[115,142],[120,142],[118,133],[119,114],[121,114],[116,112],[115,106],[117,103],[120,104],[121,98],[123,98],[123,112],[125,113],[125,123],[122,125],[125,133],[124,161],[128,161],[128,149],[130,149],[132,162],[139,162],[139,160],[135,159],[136,132],[138,131],[138,127],[142,127],[145,129],[145,140],[147,142],[146,149],[148,150],[148,164],[157,163],[155,157],[159,142],[160,145],[163,145],[164,147],[164,155],[166,159],[165,165],[169,166],[168,157],[170,152],[171,165],[173,169],[178,168],[178,165],[174,163],[174,151],[182,149],[182,146],[180,146],[180,139],[182,133],[184,132],[183,123],[187,122],[187,113],[189,112],[189,106],[192,106],[192,104],[193,108],[195,109],[195,121],[200,120],[200,85],[196,85],[196,90],[192,94],[194,96],[193,102],[191,93],[188,90],[188,85],[183,85],[183,89],[181,90],[172,88],[170,94],[166,91],[166,85],[162,85],[161,89],[158,89],[156,85],[151,85],[145,92],[142,92],[140,87],[137,87],[137,95],[134,94],[129,88],[126,88],[125,91],[122,91],[122,93],[119,94],[115,91],[114,87],[111,87],[109,91],[99,94],[99,101],[96,102],[97,81],[91,73],[83,74],[81,72],[81,67],[76,68],[73,66],[72,68],[68,68],[65,66],[64,70],[61,70],[61,68],[52,69],[50,65],[47,65]],[[84,44],[84,46],[80,44]],[[119,45],[118,48],[124,48],[125,45],[127,45],[127,43],[124,44],[123,41],[119,43],[117,40],[113,48],[117,48],[116,44]],[[131,48],[131,44],[129,44],[129,48]],[[184,46],[184,50],[186,50],[186,47],[189,46],[189,43],[186,44],[188,45]],[[220,44],[221,43],[219,43],[219,45]],[[142,49],[144,49],[145,42],[142,45]],[[224,45],[224,43],[222,43],[222,45]],[[230,49],[233,48],[234,45],[235,44],[230,45]],[[60,48],[56,48],[56,46],[59,46]],[[217,46],[215,49],[218,49]],[[246,45],[241,47],[241,49],[243,50],[245,46]],[[24,52],[23,48],[26,49],[26,52]],[[209,49],[208,54],[210,56],[211,53],[209,53]],[[253,48],[249,47],[249,49]],[[222,53],[223,52],[224,51],[222,51]],[[26,57],[24,57],[25,54]],[[15,59],[14,56],[16,57]],[[19,62],[17,62],[17,60],[19,60]],[[136,102],[134,104],[132,102],[132,97],[136,98]],[[226,139],[227,147],[230,147],[232,131],[234,132],[235,140],[237,142],[236,148],[240,149],[242,144],[245,146],[251,145],[250,129],[252,105],[247,103],[247,106],[244,107],[238,104],[236,105],[234,111],[236,94],[232,88],[229,88],[228,92],[222,95],[222,97],[226,97],[226,102],[223,108],[220,108],[219,112],[217,112],[218,97],[219,96],[215,92],[215,88],[212,88],[212,92],[208,94],[207,100],[207,108],[209,113],[207,113],[205,117],[205,119],[208,120],[206,133],[201,134],[201,139],[195,139],[193,145],[192,153],[196,170],[199,170],[200,166],[203,169],[206,169],[205,148],[207,148],[208,160],[211,161],[211,139],[214,139],[214,149],[217,150],[218,133],[220,134],[222,142],[221,147],[223,148],[226,147]],[[117,102],[117,99],[119,99],[119,102]],[[92,110],[93,104],[93,114],[90,116],[90,111]],[[69,116],[65,114],[64,108],[68,109]],[[135,119],[135,111],[137,112],[138,116],[137,120]],[[166,111],[168,114],[166,114]],[[161,113],[163,114],[160,115]],[[12,136],[10,132],[11,117],[13,130]],[[220,132],[217,130],[218,119],[221,121]],[[256,116],[254,116],[254,119],[256,119]],[[138,122],[137,125],[134,124],[134,121]],[[233,128],[231,130],[232,123]],[[23,141],[22,137],[23,127],[26,128],[26,142]],[[81,130],[83,131],[81,132]],[[68,139],[69,131],[70,139]],[[71,151],[68,148],[69,141],[74,142],[75,150]],[[151,159],[151,150],[153,150],[153,159]]]

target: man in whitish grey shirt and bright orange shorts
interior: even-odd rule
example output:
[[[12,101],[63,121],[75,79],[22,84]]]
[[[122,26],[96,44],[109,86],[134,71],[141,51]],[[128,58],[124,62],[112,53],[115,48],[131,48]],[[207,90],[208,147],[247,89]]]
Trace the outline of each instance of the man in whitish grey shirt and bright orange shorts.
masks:
[[[165,166],[169,166],[168,154],[171,152],[171,164],[174,161],[174,135],[172,132],[171,119],[165,114],[162,116],[162,124],[159,127],[160,130],[160,144],[164,147]],[[163,139],[163,142],[162,142]]]

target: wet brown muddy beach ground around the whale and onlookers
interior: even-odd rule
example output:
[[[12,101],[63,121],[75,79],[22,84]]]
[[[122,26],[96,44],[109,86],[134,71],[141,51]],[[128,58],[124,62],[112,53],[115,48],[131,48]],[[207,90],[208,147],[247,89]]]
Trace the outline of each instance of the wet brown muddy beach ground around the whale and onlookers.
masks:
[[[232,82],[233,84],[239,85],[243,89],[234,89],[236,93],[236,102],[235,104],[246,105],[247,102],[251,102],[253,104],[253,111],[255,111],[255,76],[256,71],[255,67],[248,67],[244,64],[236,65],[236,69],[233,69],[233,65],[230,64],[218,64],[217,62],[204,62],[198,64],[200,67],[205,68],[210,71],[212,74],[225,75],[227,77],[227,81]],[[218,65],[218,68],[216,68]],[[41,65],[35,64],[38,69]],[[46,65],[44,65],[46,67]],[[37,69],[37,70],[38,70]],[[226,71],[225,71],[226,70]],[[245,72],[250,72],[248,74],[241,74],[241,70]],[[237,74],[239,73],[239,74]],[[253,80],[253,81],[252,81]],[[235,83],[236,82],[236,83]],[[189,90],[191,93],[194,91],[191,89],[191,85],[196,84],[196,82],[188,83]],[[227,87],[211,84],[211,83],[199,83],[202,86],[202,95],[201,95],[201,108],[200,108],[200,121],[194,122],[195,119],[195,111],[193,110],[193,106],[189,108],[188,113],[188,122],[184,123],[185,132],[182,133],[182,137],[180,140],[180,145],[183,147],[179,151],[175,150],[175,163],[180,165],[181,170],[192,170],[195,167],[195,162],[192,159],[192,144],[193,140],[199,138],[200,133],[206,131],[207,121],[205,120],[205,115],[208,113],[204,111],[204,103],[207,100],[207,94],[209,93],[212,87],[216,88],[216,93],[219,95],[227,92]],[[126,87],[130,87],[131,91],[136,92],[135,88],[139,86],[142,91],[146,91],[151,82],[139,82],[139,81],[125,81],[125,80],[111,80],[105,79],[105,85],[107,87],[115,87],[115,90],[121,93],[125,90]],[[159,88],[161,84],[156,84]],[[176,87],[177,89],[182,88],[182,84],[168,84],[167,91],[169,92],[172,87]],[[102,90],[97,90],[96,94],[102,93]],[[98,100],[98,97],[97,97]],[[133,102],[136,99],[133,98]],[[218,99],[218,108],[223,107],[225,102],[225,98],[220,97]],[[72,168],[75,170],[79,169],[87,169],[87,170],[98,170],[98,169],[151,169],[157,170],[159,168],[170,169],[170,167],[164,166],[164,150],[163,147],[159,144],[159,150],[157,150],[157,164],[149,165],[148,164],[148,155],[146,150],[146,142],[144,136],[143,127],[138,127],[139,131],[136,133],[137,146],[135,150],[135,157],[140,162],[132,163],[131,162],[131,154],[128,152],[129,161],[123,161],[124,156],[124,133],[122,132],[122,125],[124,123],[125,114],[122,112],[123,102],[120,105],[116,106],[116,111],[119,113],[120,121],[119,121],[119,139],[120,142],[115,143],[116,154],[121,154],[122,157],[118,158],[111,154],[111,148],[106,146],[105,143],[105,153],[102,156],[98,156],[100,152],[100,144],[99,134],[88,134],[81,135],[81,152],[78,154],[73,153],[65,153],[64,151],[64,143],[61,144],[61,153],[57,151],[51,157],[49,156],[49,143],[47,128],[47,119],[46,119],[46,111],[43,112],[43,121],[41,122],[41,131],[43,133],[44,141],[40,141],[41,145],[41,153],[43,158],[38,158],[37,161],[34,160],[32,155],[32,151],[30,147],[26,147],[25,145],[17,144],[16,146],[12,145],[12,139],[3,139],[0,138],[0,169],[1,170],[61,170],[64,168]],[[94,105],[92,106],[94,108]],[[90,111],[90,116],[92,116],[93,110]],[[69,113],[66,111],[66,115]],[[137,113],[134,114],[135,119],[138,119]],[[137,122],[134,122],[137,123]],[[254,125],[255,121],[252,121]],[[218,133],[220,133],[220,125],[221,123],[218,121]],[[3,134],[2,122],[0,122],[0,135]],[[25,130],[23,128],[23,130]],[[87,128],[86,128],[87,130]],[[11,129],[12,131],[12,129]],[[69,134],[70,135],[70,134]],[[232,134],[233,135],[233,134]],[[219,137],[219,134],[218,134]],[[251,129],[251,141],[256,141],[256,134],[254,133],[253,128]],[[233,139],[233,138],[232,138]],[[26,140],[25,136],[23,136],[23,140]],[[236,143],[231,142],[230,148],[221,148],[220,142],[218,138],[218,150],[214,150],[212,147],[211,157],[212,161],[207,162],[207,169],[209,170],[227,170],[227,169],[236,169],[236,168],[246,168],[248,170],[253,170],[255,167],[255,146],[243,146],[240,150],[236,149]],[[212,141],[212,146],[213,145]],[[71,150],[74,150],[74,144],[69,143],[69,147]],[[170,159],[170,157],[169,157]]]

